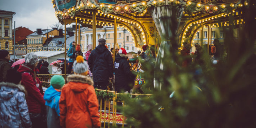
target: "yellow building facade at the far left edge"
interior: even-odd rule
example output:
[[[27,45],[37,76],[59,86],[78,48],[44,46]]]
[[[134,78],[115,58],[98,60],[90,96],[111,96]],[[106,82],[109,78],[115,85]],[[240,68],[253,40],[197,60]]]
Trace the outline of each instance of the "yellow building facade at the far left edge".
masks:
[[[12,16],[15,12],[0,10],[0,48],[13,54]]]

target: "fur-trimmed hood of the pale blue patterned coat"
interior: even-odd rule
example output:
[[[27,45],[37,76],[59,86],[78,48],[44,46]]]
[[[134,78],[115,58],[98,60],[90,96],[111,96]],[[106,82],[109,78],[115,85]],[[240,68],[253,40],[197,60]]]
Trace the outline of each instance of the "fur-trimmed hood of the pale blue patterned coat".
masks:
[[[11,97],[13,97],[18,91],[24,92],[25,87],[20,84],[14,84],[10,82],[1,82],[0,83],[0,98],[9,100]]]

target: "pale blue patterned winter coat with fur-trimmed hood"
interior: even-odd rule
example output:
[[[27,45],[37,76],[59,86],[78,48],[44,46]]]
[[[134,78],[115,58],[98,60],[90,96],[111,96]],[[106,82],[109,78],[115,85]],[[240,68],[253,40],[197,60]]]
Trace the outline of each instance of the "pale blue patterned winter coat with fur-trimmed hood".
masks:
[[[0,128],[29,128],[25,88],[9,82],[0,83]]]

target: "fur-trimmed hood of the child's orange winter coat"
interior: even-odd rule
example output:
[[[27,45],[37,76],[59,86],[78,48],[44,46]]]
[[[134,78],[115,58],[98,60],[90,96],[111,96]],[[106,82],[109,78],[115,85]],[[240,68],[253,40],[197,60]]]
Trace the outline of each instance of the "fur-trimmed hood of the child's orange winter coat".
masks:
[[[89,76],[73,74],[67,77],[67,85],[74,92],[82,92],[89,86],[93,86],[93,81]]]

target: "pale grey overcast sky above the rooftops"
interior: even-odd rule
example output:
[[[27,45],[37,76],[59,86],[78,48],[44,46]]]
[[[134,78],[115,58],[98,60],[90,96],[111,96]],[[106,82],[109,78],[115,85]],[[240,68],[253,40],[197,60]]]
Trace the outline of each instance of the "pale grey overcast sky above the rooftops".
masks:
[[[16,12],[13,16],[16,27],[23,26],[31,31],[37,28],[50,29],[51,25],[59,22],[54,15],[54,8],[51,0],[0,0],[0,9]]]

